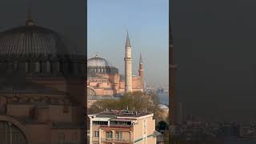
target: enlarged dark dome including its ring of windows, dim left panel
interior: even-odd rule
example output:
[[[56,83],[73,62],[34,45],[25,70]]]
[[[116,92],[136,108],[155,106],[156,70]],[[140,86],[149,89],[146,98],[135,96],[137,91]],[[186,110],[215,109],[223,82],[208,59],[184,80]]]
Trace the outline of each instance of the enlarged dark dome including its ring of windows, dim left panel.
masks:
[[[26,77],[84,75],[84,54],[54,30],[34,25],[0,32],[0,76],[26,74]]]

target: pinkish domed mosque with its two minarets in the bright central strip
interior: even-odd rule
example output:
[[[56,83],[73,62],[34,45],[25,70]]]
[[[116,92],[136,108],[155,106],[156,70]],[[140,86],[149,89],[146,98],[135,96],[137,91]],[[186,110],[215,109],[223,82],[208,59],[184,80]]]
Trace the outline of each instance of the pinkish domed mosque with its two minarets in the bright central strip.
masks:
[[[87,60],[87,96],[114,96],[128,92],[144,90],[144,70],[142,54],[140,54],[138,76],[132,75],[132,57],[130,38],[126,36],[125,77],[118,73],[118,68],[110,65],[105,58],[98,57]],[[93,98],[95,99],[95,98]]]

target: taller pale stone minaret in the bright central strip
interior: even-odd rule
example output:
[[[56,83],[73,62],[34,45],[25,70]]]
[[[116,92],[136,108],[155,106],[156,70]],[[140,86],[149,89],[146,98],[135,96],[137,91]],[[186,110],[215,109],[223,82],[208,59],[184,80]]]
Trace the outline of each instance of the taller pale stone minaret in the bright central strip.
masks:
[[[125,92],[132,92],[132,59],[131,59],[131,46],[130,38],[127,32],[126,36],[126,57],[125,59]]]

